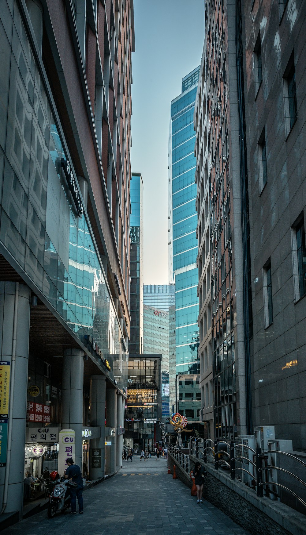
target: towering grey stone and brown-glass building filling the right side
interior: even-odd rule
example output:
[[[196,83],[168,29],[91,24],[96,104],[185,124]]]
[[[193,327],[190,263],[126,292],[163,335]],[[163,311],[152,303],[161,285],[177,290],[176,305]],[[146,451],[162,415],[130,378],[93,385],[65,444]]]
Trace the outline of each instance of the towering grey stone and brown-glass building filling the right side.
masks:
[[[206,6],[214,436],[274,425],[295,449],[306,446],[304,19],[302,0]]]

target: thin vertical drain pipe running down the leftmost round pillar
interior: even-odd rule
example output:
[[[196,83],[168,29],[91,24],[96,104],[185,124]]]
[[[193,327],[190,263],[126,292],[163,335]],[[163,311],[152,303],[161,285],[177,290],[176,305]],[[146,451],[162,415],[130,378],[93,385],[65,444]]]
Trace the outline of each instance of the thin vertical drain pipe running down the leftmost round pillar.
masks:
[[[17,339],[17,314],[18,314],[18,299],[19,299],[19,282],[16,282],[15,287],[15,302],[14,302],[14,320],[13,320],[13,343],[12,343],[12,359],[11,359],[11,378],[10,378],[10,400],[9,400],[9,425],[7,429],[7,450],[6,450],[6,467],[4,479],[3,492],[3,506],[0,515],[4,512],[7,505],[7,493],[9,492],[9,477],[10,477],[10,461],[11,461],[11,444],[12,444],[12,428],[13,428],[13,399],[14,399],[14,379],[15,379],[15,362],[16,362],[16,339]]]

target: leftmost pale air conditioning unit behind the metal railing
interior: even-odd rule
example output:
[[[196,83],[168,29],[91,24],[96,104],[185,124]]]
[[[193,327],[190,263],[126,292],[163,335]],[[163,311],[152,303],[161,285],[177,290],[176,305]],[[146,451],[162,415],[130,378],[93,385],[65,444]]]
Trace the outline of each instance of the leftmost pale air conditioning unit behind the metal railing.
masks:
[[[234,450],[235,457],[239,457],[236,460],[236,474],[239,475],[242,482],[244,482],[249,487],[253,488],[255,486],[255,480],[254,480],[255,468],[252,462],[255,463],[254,452],[256,448],[254,435],[240,435],[239,437],[236,437],[235,446],[238,446]],[[252,450],[254,450],[254,452]]]

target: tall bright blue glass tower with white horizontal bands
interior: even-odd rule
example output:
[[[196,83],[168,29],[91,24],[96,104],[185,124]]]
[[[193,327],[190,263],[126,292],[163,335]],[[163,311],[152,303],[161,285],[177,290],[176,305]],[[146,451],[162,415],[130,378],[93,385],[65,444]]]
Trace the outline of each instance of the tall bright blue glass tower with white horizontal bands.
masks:
[[[183,78],[182,93],[171,101],[168,149],[169,280],[175,283],[176,351],[175,355],[170,355],[169,362],[170,393],[172,393],[170,405],[176,405],[174,396],[177,376],[200,373],[198,240],[195,209],[197,184],[194,182],[196,159],[193,129],[199,72],[200,67],[197,67]],[[179,404],[179,409],[181,414],[185,414],[183,403]],[[190,420],[199,419],[200,401],[192,409],[192,413],[188,414]]]

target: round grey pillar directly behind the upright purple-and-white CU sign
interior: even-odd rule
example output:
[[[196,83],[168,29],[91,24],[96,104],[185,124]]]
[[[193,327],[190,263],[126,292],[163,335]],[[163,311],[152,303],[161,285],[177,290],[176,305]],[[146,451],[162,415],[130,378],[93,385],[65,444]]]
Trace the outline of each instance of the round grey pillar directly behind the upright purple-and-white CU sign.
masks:
[[[62,363],[61,427],[75,431],[75,464],[82,472],[84,351],[65,349]]]

